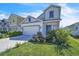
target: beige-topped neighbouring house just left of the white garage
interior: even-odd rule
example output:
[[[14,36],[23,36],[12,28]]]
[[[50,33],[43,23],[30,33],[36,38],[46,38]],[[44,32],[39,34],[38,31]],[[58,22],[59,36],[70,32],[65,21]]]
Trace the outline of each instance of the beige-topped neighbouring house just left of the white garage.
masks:
[[[16,14],[11,14],[8,18],[9,31],[22,31],[21,24],[23,20],[24,20],[23,17],[18,16]]]

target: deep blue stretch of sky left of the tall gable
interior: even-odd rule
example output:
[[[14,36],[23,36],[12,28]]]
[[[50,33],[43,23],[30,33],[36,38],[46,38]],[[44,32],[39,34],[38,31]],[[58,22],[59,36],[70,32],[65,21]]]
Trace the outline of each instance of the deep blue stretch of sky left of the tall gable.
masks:
[[[2,3],[0,4],[0,10],[6,14],[19,13],[19,12],[34,12],[37,10],[43,10],[48,4],[14,4],[14,3]]]

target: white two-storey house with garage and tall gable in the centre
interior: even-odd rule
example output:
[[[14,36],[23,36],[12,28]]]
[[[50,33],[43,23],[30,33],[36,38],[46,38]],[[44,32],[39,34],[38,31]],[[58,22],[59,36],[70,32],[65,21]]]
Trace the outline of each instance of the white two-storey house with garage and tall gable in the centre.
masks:
[[[61,7],[50,5],[43,13],[34,18],[28,16],[21,25],[24,35],[34,35],[41,32],[43,36],[50,30],[58,29],[61,21]]]

